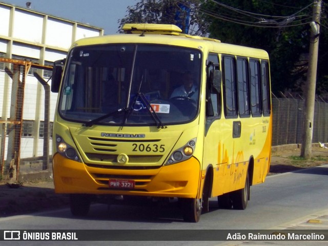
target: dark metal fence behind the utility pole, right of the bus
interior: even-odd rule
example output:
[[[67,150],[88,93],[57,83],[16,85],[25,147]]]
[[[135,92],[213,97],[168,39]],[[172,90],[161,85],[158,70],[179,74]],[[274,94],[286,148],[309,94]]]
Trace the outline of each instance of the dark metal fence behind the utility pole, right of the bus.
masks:
[[[273,98],[272,111],[272,145],[302,143],[305,100]],[[315,102],[312,142],[328,142],[328,103]]]

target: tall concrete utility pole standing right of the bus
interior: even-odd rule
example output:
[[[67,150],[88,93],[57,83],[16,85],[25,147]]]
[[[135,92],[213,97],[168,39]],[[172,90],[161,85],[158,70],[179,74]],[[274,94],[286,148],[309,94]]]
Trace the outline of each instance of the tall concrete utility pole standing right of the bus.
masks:
[[[321,0],[314,0],[313,3],[313,22],[311,24],[309,66],[306,75],[306,85],[308,90],[305,97],[305,121],[304,134],[301,147],[301,157],[311,159],[312,156],[312,136],[314,105],[316,96],[319,32],[320,32]]]

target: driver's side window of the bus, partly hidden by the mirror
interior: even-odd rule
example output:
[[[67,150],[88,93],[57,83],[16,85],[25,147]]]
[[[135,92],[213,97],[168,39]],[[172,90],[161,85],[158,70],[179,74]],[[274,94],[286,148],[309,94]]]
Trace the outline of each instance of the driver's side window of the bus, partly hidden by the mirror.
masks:
[[[214,66],[210,65],[208,69],[208,81],[207,81],[207,87],[206,87],[206,99],[207,99],[207,116],[215,116],[218,117],[221,115],[221,97],[220,92],[213,88],[213,86],[210,83],[211,76],[213,76],[213,69],[219,70],[219,58],[218,54],[216,53],[210,53],[208,61],[215,64]]]

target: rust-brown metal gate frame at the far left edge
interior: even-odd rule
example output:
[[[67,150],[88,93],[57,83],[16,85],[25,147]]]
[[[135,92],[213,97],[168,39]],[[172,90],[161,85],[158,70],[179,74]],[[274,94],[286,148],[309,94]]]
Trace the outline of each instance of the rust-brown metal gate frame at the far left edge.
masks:
[[[6,58],[0,58],[0,65],[0,179],[18,180],[26,77],[31,67],[52,67]]]

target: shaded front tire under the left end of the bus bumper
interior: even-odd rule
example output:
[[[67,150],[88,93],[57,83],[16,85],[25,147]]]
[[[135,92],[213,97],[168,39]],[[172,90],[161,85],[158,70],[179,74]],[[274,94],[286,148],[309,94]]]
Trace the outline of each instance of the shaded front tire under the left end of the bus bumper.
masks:
[[[70,194],[71,213],[74,216],[86,216],[90,210],[91,199],[85,194]]]

